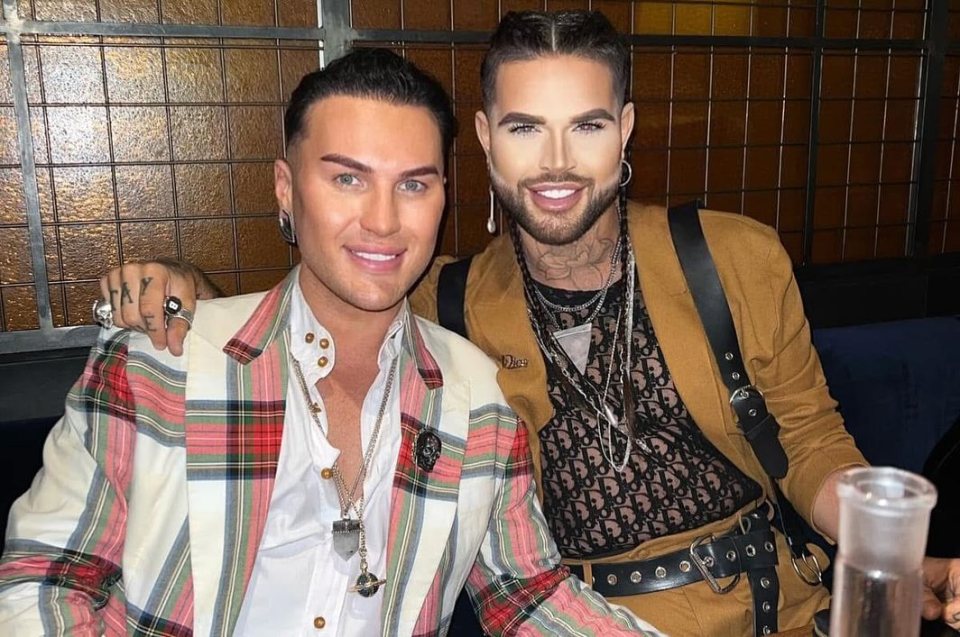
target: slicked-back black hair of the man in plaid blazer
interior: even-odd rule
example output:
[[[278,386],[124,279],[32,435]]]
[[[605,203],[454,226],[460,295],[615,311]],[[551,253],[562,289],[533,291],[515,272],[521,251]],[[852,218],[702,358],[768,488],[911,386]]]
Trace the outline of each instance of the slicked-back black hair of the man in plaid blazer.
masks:
[[[355,49],[300,80],[283,117],[287,148],[303,134],[310,107],[336,95],[426,108],[440,129],[444,159],[449,155],[457,128],[450,96],[415,64],[378,48]]]

